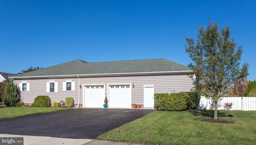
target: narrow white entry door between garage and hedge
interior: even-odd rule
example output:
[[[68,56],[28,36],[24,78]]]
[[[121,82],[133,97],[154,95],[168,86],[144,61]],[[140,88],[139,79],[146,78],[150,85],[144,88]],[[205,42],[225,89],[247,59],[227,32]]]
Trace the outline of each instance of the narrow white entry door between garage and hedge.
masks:
[[[144,85],[144,108],[154,108],[154,85]]]

